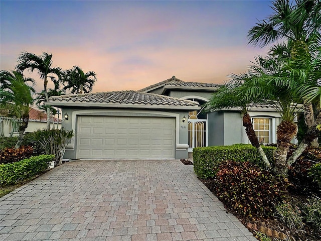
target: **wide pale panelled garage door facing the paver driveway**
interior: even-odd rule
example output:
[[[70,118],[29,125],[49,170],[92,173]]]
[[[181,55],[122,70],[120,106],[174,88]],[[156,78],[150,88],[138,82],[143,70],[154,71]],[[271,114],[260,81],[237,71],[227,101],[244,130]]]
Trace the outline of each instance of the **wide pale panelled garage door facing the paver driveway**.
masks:
[[[79,116],[77,158],[174,158],[175,118]]]

